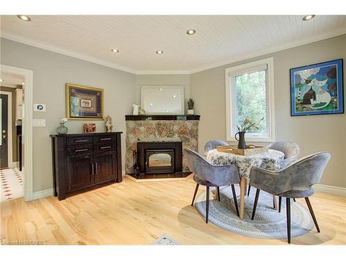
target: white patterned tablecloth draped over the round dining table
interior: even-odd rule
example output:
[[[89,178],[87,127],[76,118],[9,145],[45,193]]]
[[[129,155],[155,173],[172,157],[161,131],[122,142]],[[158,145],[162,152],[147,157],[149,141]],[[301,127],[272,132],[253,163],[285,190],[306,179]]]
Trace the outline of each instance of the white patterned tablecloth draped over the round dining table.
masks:
[[[223,153],[217,149],[210,150],[207,155],[207,161],[212,165],[230,165],[237,167],[241,177],[250,177],[250,171],[253,166],[265,168],[271,171],[280,170],[284,153],[278,150],[268,150],[268,153],[259,155],[233,155],[232,153]]]

